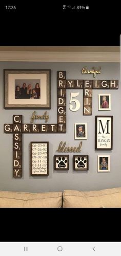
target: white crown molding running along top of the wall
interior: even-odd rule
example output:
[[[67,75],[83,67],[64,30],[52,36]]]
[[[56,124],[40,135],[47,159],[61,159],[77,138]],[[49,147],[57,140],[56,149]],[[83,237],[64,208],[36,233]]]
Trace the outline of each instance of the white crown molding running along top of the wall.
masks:
[[[119,52],[0,51],[0,61],[120,62]]]

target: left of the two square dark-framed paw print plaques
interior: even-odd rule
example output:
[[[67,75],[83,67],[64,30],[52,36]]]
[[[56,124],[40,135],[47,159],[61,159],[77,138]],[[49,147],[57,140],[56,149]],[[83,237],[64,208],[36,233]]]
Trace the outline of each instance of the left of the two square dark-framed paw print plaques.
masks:
[[[69,170],[69,155],[54,155],[54,170]]]

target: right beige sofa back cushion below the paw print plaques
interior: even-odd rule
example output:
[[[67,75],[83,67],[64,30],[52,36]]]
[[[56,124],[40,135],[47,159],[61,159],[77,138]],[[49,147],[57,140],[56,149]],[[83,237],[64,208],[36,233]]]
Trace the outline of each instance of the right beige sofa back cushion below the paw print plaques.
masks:
[[[98,191],[64,190],[63,207],[78,208],[116,208],[121,207],[121,188]]]

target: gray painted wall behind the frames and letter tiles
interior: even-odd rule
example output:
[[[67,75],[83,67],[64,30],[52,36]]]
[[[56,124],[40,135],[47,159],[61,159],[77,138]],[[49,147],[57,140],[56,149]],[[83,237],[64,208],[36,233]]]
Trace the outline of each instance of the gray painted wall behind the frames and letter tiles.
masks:
[[[39,63],[39,62],[2,62],[0,63],[0,190],[6,191],[27,191],[27,192],[48,192],[63,191],[64,189],[73,190],[99,190],[113,187],[120,187],[121,182],[121,88],[119,83],[118,90],[105,90],[104,93],[111,94],[111,111],[98,111],[98,94],[101,90],[93,90],[93,114],[83,116],[83,90],[67,90],[67,133],[66,134],[23,134],[23,177],[15,179],[12,177],[13,163],[13,136],[4,133],[4,123],[12,123],[13,115],[23,115],[23,123],[30,123],[30,116],[33,109],[4,109],[4,82],[3,69],[51,69],[51,109],[48,123],[56,123],[57,104],[56,104],[56,77],[57,70],[66,70],[67,79],[93,79],[92,75],[82,75],[80,70],[83,66],[102,66],[102,74],[97,79],[118,79],[118,63]],[[69,109],[70,93],[79,92],[77,99],[80,101],[80,109],[72,112]],[[42,115],[44,110],[37,109],[37,115]],[[95,115],[113,116],[113,150],[95,151]],[[88,139],[83,140],[81,154],[89,155],[89,171],[74,172],[72,169],[73,154],[69,153],[69,171],[54,171],[53,156],[56,153],[60,141],[66,141],[68,146],[78,146],[80,140],[74,140],[74,123],[87,122]],[[36,121],[44,123],[44,120]],[[30,141],[49,141],[49,176],[33,177],[30,176]],[[58,153],[59,154],[59,153]],[[97,173],[97,155],[110,155],[111,166],[109,173]]]

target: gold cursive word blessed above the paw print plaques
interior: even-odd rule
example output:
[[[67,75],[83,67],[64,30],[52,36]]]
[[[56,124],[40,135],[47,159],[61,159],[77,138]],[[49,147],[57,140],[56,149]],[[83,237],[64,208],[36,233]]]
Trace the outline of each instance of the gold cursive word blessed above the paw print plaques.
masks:
[[[58,146],[58,149],[56,150],[56,152],[62,152],[62,153],[65,153],[65,152],[70,152],[70,153],[79,153],[81,151],[81,148],[82,148],[82,141],[80,141],[79,143],[79,146],[78,147],[66,147],[65,148],[65,145],[66,145],[66,141],[64,142],[63,144],[63,141],[61,141],[59,143],[59,146]]]

